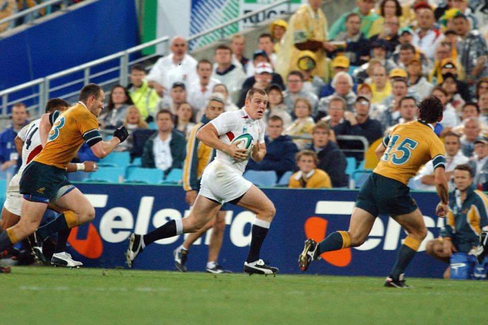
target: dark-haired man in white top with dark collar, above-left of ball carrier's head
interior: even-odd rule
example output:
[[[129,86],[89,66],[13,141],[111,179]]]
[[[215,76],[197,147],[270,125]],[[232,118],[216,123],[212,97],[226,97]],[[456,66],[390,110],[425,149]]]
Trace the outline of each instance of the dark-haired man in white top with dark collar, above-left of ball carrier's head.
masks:
[[[215,78],[224,84],[230,96],[240,91],[242,83],[246,80],[246,74],[242,69],[232,64],[232,50],[230,47],[219,45],[214,52],[214,61],[217,63],[217,68],[211,78]]]

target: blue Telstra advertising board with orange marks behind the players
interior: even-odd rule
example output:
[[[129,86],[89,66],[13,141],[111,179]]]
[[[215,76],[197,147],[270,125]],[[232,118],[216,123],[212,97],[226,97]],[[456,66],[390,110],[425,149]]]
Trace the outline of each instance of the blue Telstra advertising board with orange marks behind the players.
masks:
[[[88,267],[125,267],[125,251],[132,232],[146,234],[166,221],[189,213],[180,186],[87,184],[77,187],[96,208],[95,220],[74,229],[69,252]],[[261,250],[261,258],[280,268],[280,273],[300,273],[297,258],[307,237],[321,240],[337,230],[347,230],[357,196],[355,190],[263,189],[277,214]],[[435,193],[413,193],[424,215],[428,236],[407,269],[407,276],[441,277],[445,265],[425,254],[425,242],[436,238],[444,220],[434,214]],[[242,272],[251,241],[254,215],[236,206],[226,214],[226,230],[220,252],[225,269]],[[405,231],[387,216],[377,218],[367,241],[360,247],[322,255],[310,274],[386,276],[394,264]],[[173,270],[173,250],[185,235],[157,241],[136,259],[134,268]],[[204,271],[209,233],[192,246],[189,271]]]

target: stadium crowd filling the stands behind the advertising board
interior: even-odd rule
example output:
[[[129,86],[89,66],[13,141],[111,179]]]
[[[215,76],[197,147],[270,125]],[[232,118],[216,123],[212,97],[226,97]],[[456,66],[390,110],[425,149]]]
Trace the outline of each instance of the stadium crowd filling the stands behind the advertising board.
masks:
[[[3,3],[6,10],[10,2]],[[17,3],[17,8],[32,5]],[[243,106],[250,88],[258,87],[269,94],[268,153],[248,170],[275,171],[278,179],[286,178],[281,184],[296,184],[300,175],[301,186],[310,187],[309,173],[291,174],[300,170],[295,155],[311,150],[316,167],[330,179],[320,184],[347,187],[352,172],[375,165],[371,153],[377,141],[396,124],[415,120],[416,104],[434,95],[445,106],[436,134],[459,140],[459,150],[448,150],[447,159],[471,164],[476,185],[488,188],[488,155],[483,154],[488,144],[479,138],[488,122],[484,2],[356,4],[329,26],[322,1],[310,0],[288,22],[273,21],[257,44],[233,35],[228,44],[216,47],[212,60],[197,61],[185,39],[174,37],[169,55],[148,71],[134,64],[129,86],[112,87],[100,127],[108,131],[125,125],[131,136],[117,151],[128,151],[131,160],[141,159],[136,164],[167,175],[182,169],[185,138],[201,121],[210,96],[222,98],[225,111],[233,111]],[[252,57],[245,52],[253,52]],[[12,127],[0,135],[2,170],[17,161],[14,139],[27,121],[25,106],[16,105],[12,116]],[[363,137],[371,149],[342,136]],[[297,156],[310,158],[303,151]],[[81,162],[97,161],[80,157]],[[432,189],[429,172],[422,169],[411,187]]]

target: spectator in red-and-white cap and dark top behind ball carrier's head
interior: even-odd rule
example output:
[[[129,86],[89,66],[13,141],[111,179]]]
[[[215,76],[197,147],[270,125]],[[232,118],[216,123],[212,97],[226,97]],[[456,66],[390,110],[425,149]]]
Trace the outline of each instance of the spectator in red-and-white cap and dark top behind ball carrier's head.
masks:
[[[248,93],[249,89],[253,87],[266,89],[269,87],[269,85],[276,84],[282,87],[282,89],[285,89],[283,79],[281,79],[279,74],[273,72],[273,68],[269,62],[257,63],[254,72],[254,76],[249,77],[246,79],[246,81],[244,81],[244,83],[242,83],[239,100],[237,101],[238,107],[244,106],[246,94]]]

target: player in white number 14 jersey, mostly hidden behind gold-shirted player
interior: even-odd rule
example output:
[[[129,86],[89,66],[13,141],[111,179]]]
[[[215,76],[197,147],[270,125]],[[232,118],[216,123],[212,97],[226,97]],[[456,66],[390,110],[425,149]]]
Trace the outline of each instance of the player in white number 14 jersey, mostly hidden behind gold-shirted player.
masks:
[[[69,104],[58,98],[50,99],[46,104],[46,113],[54,111],[64,111],[69,108]],[[7,188],[7,199],[2,209],[2,218],[0,219],[0,231],[5,231],[16,224],[20,219],[20,209],[22,206],[22,194],[19,192],[19,181],[22,176],[22,172],[25,167],[31,162],[31,160],[42,150],[41,138],[39,135],[39,122],[41,119],[36,119],[31,123],[25,125],[17,134],[15,139],[15,146],[17,151],[22,155],[22,165],[19,171],[10,180]],[[77,170],[84,170],[85,172],[94,171],[97,165],[94,161],[85,161],[83,164],[70,164],[68,172],[74,172]],[[49,208],[56,212],[63,212],[62,209],[50,204]],[[68,267],[81,266],[81,262],[74,261],[71,255],[65,252],[66,242],[70,235],[71,229],[63,233],[59,233],[56,242],[56,248],[51,259],[51,263],[55,265],[62,265]],[[41,262],[46,263],[45,257],[42,253],[42,246],[34,247],[39,251],[35,251]]]

